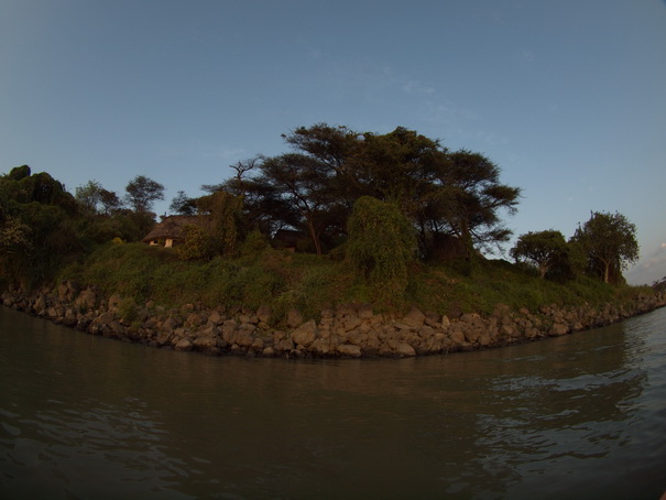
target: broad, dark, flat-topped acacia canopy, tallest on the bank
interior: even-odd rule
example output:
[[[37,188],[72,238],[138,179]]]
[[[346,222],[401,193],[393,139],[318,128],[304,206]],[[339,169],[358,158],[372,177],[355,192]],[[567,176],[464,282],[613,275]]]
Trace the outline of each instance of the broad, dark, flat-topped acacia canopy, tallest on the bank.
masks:
[[[247,177],[205,186],[243,194],[248,222],[264,231],[302,230],[323,253],[347,236],[356,200],[372,196],[396,204],[423,256],[439,235],[463,241],[468,258],[511,235],[502,211],[515,211],[521,191],[502,184],[500,169],[480,153],[451,152],[403,127],[376,134],[317,123],[283,138],[292,152],[260,156],[242,170]]]

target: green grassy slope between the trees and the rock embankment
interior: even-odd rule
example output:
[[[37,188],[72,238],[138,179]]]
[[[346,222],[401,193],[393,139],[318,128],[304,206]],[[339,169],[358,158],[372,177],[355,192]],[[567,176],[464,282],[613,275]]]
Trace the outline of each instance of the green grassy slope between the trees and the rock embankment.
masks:
[[[490,314],[499,303],[537,311],[546,304],[594,305],[653,293],[647,286],[611,286],[589,278],[554,283],[505,261],[479,262],[471,274],[461,268],[455,261],[413,264],[404,301],[384,307],[374,302],[376,290],[345,261],[270,247],[245,250],[234,259],[184,262],[173,249],[109,243],[59,278],[95,284],[105,295],[117,293],[137,305],[148,301],[165,307],[200,304],[255,309],[266,305],[277,315],[296,308],[315,318],[321,309],[349,302],[372,303],[378,312],[398,313],[416,306],[455,317],[471,312]]]

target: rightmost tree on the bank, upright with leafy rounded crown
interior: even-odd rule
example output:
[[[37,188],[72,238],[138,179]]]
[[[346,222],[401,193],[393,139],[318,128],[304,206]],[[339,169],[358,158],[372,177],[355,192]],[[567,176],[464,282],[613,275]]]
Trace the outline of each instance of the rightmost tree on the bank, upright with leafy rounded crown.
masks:
[[[622,271],[638,260],[636,227],[619,213],[592,211],[572,240],[585,249],[589,270],[604,283],[619,282]]]

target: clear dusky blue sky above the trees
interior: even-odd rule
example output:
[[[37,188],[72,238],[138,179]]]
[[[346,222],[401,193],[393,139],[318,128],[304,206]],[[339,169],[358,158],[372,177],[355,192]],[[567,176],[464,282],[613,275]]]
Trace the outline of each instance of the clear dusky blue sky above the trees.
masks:
[[[162,215],[318,122],[483,153],[516,237],[621,213],[666,276],[664,0],[0,0],[2,174],[146,175]]]

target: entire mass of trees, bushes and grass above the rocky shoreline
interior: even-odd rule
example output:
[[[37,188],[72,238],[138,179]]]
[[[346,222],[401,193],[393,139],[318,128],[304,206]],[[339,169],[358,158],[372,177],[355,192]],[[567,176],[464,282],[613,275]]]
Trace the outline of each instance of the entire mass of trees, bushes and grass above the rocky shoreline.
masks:
[[[231,165],[236,175],[203,186],[205,196],[178,192],[172,211],[196,224],[174,249],[138,242],[164,197],[149,177],[130,181],[124,196],[96,181],[73,196],[46,173],[11,170],[0,176],[0,284],[72,279],[132,304],[309,314],[342,302],[489,313],[500,302],[535,308],[637,293],[622,280],[638,248],[621,214],[592,213],[569,241],[556,230],[522,235],[516,264],[487,260],[511,236],[503,217],[521,191],[482,154],[400,127],[318,123],[284,139],[290,152]],[[281,230],[298,243],[277,244]]]

